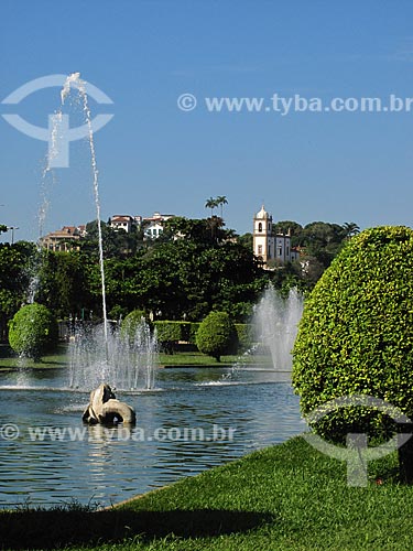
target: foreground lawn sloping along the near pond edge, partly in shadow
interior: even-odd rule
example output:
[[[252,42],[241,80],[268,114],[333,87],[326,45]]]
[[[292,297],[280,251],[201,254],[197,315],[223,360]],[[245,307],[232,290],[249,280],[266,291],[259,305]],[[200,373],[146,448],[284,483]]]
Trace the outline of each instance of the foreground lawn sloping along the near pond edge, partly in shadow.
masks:
[[[0,545],[72,544],[107,551],[413,549],[413,488],[398,483],[396,455],[370,464],[369,475],[366,488],[348,487],[345,464],[295,437],[109,510],[75,506],[1,512]]]

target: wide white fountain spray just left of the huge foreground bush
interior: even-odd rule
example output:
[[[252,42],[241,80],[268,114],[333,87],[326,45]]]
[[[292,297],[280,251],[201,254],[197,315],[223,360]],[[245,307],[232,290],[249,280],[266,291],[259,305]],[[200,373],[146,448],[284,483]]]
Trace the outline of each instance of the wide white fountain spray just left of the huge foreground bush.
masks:
[[[303,295],[296,289],[292,289],[284,299],[269,287],[254,307],[254,337],[270,350],[273,367],[279,371],[292,368],[291,352],[303,314]]]

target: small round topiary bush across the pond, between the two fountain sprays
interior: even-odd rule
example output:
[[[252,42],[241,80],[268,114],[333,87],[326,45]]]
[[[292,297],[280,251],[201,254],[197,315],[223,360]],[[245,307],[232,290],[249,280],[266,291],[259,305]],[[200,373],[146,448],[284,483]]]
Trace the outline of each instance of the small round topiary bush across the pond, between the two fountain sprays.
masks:
[[[196,346],[203,354],[217,361],[220,356],[235,345],[237,332],[226,312],[210,312],[199,324],[196,333]]]

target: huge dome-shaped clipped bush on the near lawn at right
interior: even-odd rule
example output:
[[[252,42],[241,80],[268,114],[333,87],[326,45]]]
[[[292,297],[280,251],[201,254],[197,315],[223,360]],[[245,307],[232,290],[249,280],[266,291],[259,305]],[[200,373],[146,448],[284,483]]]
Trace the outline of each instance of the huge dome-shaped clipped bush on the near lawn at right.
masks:
[[[412,229],[365,230],[336,257],[305,302],[292,380],[304,414],[368,395],[413,417]],[[338,442],[349,432],[394,432],[388,415],[360,407],[340,408],[313,428]]]

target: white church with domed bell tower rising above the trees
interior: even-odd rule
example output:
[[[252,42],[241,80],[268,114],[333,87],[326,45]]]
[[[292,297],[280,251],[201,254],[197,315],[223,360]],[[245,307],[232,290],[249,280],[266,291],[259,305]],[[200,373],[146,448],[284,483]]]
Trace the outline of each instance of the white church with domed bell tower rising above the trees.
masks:
[[[284,234],[274,234],[272,216],[264,205],[253,218],[253,253],[260,258],[264,264],[270,260],[275,263],[284,264],[300,259],[300,252],[291,246],[290,231]]]

